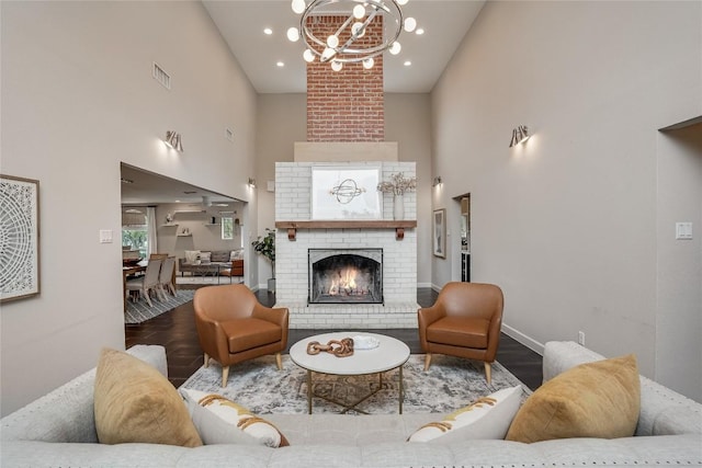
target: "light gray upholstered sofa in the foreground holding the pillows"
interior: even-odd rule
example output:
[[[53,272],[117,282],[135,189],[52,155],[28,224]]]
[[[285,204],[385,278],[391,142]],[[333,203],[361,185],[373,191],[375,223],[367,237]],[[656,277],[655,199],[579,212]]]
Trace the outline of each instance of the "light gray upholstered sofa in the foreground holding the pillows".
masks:
[[[129,353],[167,373],[161,346]],[[550,342],[544,377],[602,356],[571,342]],[[642,377],[636,436],[566,438],[534,444],[465,441],[408,443],[407,436],[438,414],[267,414],[291,446],[97,443],[94,369],[0,420],[4,467],[555,467],[702,465],[702,404]]]

